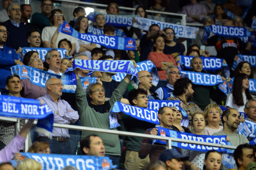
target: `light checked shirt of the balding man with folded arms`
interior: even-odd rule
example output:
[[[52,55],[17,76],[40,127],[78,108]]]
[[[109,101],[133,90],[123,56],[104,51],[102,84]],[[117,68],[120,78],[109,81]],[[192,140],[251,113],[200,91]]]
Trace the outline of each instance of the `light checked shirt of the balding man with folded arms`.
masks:
[[[70,124],[75,123],[79,119],[77,111],[74,111],[65,100],[61,100],[61,97],[59,97],[58,103],[49,94],[39,97],[37,100],[42,100],[51,108],[54,114],[54,123]],[[43,134],[39,134],[39,136],[43,136]],[[69,129],[53,127],[53,136],[70,137]]]

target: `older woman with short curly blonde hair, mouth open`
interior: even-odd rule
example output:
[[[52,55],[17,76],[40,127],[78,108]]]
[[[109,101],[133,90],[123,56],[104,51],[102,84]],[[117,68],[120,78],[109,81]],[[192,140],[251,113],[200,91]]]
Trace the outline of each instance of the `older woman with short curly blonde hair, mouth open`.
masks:
[[[220,126],[220,118],[222,110],[216,104],[210,104],[205,107],[205,120],[207,121],[207,126],[205,126],[205,135],[212,135],[215,132],[220,132],[223,130],[223,126]]]

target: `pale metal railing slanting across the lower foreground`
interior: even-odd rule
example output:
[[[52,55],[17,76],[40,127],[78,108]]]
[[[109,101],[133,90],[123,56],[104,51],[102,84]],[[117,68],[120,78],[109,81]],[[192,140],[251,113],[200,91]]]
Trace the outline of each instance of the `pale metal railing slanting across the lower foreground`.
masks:
[[[14,123],[18,123],[19,119],[0,116],[0,121],[11,121]],[[36,122],[37,121],[34,121],[34,124],[36,124]],[[26,123],[27,123],[27,121],[26,121]],[[19,126],[17,126],[17,127],[19,127]],[[230,145],[213,144],[213,143],[208,143],[208,142],[198,142],[198,141],[194,141],[194,140],[177,139],[177,138],[173,138],[173,137],[153,136],[150,134],[140,134],[140,133],[135,133],[135,132],[113,131],[110,129],[104,129],[104,131],[103,131],[103,129],[95,128],[95,127],[75,126],[75,125],[59,124],[59,123],[54,123],[53,127],[72,129],[72,130],[78,130],[78,131],[116,134],[119,136],[143,137],[143,138],[147,138],[147,139],[166,140],[166,147],[169,149],[171,148],[171,142],[182,142],[185,144],[204,145],[207,147],[226,148],[226,149],[233,149],[233,150],[236,149],[236,146],[230,146]],[[18,129],[16,131],[18,131]],[[28,150],[28,136],[25,141],[25,152],[27,152],[27,150]]]

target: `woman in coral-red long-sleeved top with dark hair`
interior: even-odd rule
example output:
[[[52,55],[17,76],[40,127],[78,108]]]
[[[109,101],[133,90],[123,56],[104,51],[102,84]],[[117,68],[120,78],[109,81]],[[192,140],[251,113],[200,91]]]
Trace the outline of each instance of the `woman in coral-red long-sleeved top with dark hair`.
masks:
[[[148,55],[148,60],[153,62],[158,70],[158,75],[160,76],[160,80],[166,81],[166,68],[171,65],[176,65],[176,62],[179,60],[179,57],[174,59],[169,54],[164,54],[164,38],[163,36],[157,36],[153,41],[153,51]],[[166,83],[158,83],[161,86],[165,86]]]

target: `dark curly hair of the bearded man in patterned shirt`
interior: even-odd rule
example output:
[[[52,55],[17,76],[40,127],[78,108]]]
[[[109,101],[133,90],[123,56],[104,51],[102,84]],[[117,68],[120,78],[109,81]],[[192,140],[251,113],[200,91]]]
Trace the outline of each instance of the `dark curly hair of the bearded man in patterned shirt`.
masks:
[[[174,83],[173,95],[179,96],[185,93],[185,90],[189,87],[189,84],[193,84],[189,78],[177,79]]]

